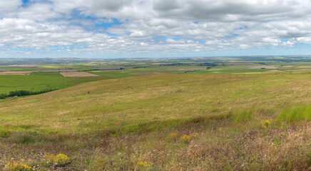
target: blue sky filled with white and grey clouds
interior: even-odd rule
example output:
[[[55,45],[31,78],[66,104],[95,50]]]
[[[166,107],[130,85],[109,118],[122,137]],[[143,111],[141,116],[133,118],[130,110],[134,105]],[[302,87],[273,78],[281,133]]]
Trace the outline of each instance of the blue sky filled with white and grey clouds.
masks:
[[[310,0],[0,0],[0,57],[311,55]]]

